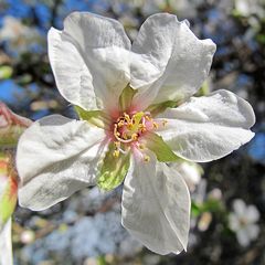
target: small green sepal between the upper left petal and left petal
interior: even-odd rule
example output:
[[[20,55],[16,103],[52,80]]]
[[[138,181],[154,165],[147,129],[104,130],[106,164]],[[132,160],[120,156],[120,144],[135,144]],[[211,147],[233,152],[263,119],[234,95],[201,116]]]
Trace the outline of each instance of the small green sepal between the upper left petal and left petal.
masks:
[[[102,110],[85,110],[80,106],[74,106],[75,112],[78,117],[83,120],[86,120],[99,128],[105,128],[109,124],[109,120],[106,114]]]

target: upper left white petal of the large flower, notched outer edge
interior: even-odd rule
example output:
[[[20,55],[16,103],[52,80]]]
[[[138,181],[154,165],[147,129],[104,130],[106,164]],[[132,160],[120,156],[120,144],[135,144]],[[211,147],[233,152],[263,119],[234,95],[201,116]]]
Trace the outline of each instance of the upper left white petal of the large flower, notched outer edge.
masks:
[[[85,109],[117,104],[129,80],[130,41],[123,25],[73,12],[64,30],[49,32],[49,57],[60,93]]]

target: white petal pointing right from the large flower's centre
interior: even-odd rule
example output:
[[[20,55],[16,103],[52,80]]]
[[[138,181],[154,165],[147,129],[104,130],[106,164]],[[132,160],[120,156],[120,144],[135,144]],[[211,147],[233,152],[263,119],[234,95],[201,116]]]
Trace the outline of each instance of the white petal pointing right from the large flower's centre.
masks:
[[[158,131],[163,140],[178,156],[197,162],[224,157],[254,136],[251,105],[229,91],[192,97],[160,117],[168,120]]]

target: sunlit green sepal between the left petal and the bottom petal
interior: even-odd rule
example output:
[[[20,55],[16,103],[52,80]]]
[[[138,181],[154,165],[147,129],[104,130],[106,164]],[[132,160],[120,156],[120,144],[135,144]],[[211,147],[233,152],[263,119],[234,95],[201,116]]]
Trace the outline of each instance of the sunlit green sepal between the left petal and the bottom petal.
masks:
[[[114,157],[114,151],[115,146],[112,142],[108,146],[108,151],[105,155],[97,179],[98,188],[105,191],[113,190],[121,184],[130,166],[129,153],[120,153],[119,157]]]

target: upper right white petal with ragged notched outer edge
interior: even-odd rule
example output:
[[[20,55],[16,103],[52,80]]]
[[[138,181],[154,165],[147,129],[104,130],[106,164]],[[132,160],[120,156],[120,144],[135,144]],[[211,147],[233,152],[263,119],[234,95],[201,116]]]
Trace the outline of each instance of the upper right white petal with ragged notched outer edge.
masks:
[[[179,100],[193,95],[206,78],[215,44],[199,40],[187,21],[159,13],[141,25],[132,44],[131,86],[141,88],[136,105]]]

